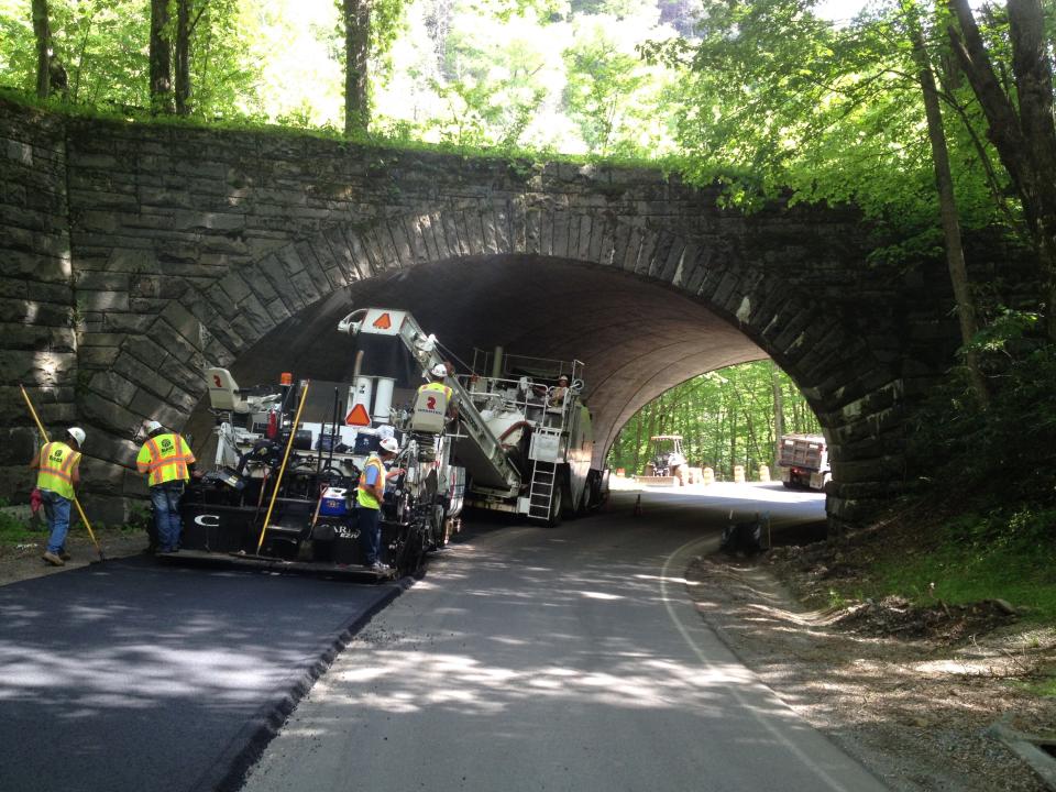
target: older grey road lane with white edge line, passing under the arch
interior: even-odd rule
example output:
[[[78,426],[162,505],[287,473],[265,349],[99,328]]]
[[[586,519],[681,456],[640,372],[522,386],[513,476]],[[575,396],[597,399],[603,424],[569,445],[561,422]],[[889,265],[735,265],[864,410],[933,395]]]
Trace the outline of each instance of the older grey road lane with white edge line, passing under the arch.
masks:
[[[792,501],[773,505],[776,524],[821,516],[817,496]],[[884,789],[690,602],[686,564],[730,508],[758,507],[712,498],[708,516],[647,494],[634,517],[620,502],[446,550],[317,683],[245,792]]]

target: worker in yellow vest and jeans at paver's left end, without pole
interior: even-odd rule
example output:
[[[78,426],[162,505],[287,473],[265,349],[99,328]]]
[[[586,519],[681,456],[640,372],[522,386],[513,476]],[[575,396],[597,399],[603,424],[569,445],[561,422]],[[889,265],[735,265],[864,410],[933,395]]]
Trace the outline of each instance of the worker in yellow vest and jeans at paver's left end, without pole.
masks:
[[[179,498],[195,469],[195,455],[187,441],[165,429],[156,420],[146,424],[146,442],[135,458],[140,473],[147,474],[157,552],[174,553],[179,549]]]

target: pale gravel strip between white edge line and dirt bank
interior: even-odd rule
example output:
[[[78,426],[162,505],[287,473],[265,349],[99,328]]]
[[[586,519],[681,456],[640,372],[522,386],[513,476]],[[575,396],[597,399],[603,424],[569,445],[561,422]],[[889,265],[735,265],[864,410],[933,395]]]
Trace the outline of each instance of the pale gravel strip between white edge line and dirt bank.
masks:
[[[686,580],[698,613],[796,713],[893,790],[1042,792],[1047,788],[988,733],[998,721],[1032,734],[1056,705],[1018,689],[1008,637],[943,646],[840,629],[766,566],[706,557]]]

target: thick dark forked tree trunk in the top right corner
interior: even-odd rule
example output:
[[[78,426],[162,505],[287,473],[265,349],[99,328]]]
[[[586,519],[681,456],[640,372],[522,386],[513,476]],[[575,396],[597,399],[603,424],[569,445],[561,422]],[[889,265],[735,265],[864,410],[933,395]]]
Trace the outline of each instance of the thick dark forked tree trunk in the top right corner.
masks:
[[[998,80],[968,0],[947,0],[960,24],[948,29],[954,54],[987,116],[990,142],[1023,205],[1041,263],[1046,331],[1056,341],[1056,122],[1053,67],[1040,0],[1009,0],[1016,102]]]

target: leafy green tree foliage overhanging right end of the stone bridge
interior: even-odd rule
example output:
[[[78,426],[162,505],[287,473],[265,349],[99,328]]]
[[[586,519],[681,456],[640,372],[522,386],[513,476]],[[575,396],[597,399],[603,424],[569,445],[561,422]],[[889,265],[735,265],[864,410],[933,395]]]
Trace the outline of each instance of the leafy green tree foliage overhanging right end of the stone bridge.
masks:
[[[937,194],[905,12],[879,3],[838,29],[811,6],[710,3],[698,44],[674,40],[647,48],[653,59],[690,66],[684,98],[673,106],[679,142],[691,158],[688,175],[697,184],[722,180],[729,202],[749,210],[784,190],[792,202],[854,202],[883,246],[873,263],[934,255],[941,250]],[[945,68],[946,20],[925,3],[919,8],[934,23],[926,32],[946,89],[961,223],[986,226],[1010,209],[1008,179],[992,167],[975,99]],[[730,179],[730,164],[749,177]]]

